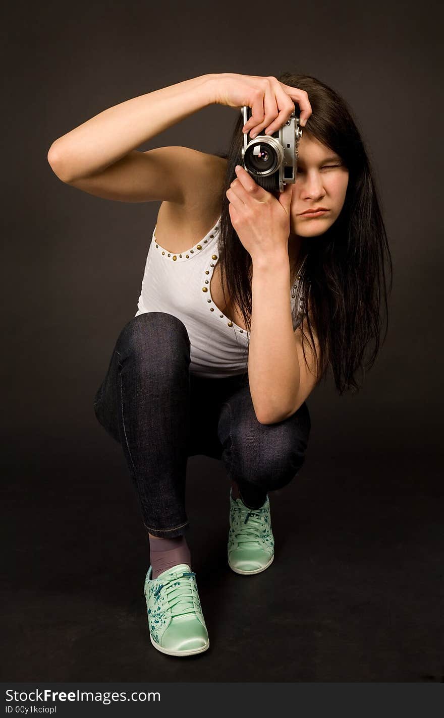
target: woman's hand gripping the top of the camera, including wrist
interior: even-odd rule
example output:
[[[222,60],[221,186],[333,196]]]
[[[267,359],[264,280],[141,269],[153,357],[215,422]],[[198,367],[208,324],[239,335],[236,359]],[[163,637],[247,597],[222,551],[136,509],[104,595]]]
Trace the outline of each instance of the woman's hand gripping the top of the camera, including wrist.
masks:
[[[213,83],[215,104],[251,107],[251,117],[242,128],[251,138],[273,134],[284,126],[295,110],[295,102],[300,107],[301,126],[305,126],[312,113],[305,90],[284,85],[274,77],[220,73],[213,75]]]

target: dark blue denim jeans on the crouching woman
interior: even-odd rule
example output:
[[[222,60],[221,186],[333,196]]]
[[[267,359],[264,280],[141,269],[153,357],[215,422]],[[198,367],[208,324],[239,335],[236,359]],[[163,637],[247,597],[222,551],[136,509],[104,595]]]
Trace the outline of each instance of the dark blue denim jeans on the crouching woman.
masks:
[[[203,378],[190,373],[185,325],[165,312],[133,317],[121,330],[94,399],[100,424],[121,444],[153,536],[181,536],[188,457],[219,459],[244,503],[292,480],[305,460],[310,414],[302,404],[277,424],[256,419],[248,373]]]

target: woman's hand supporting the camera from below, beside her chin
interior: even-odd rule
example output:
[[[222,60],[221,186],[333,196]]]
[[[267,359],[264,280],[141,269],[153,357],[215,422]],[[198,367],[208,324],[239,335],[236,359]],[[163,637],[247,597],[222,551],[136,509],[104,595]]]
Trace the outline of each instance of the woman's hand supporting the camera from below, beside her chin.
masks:
[[[244,167],[236,166],[237,179],[233,180],[226,196],[231,224],[251,258],[272,257],[286,252],[290,236],[290,202],[292,184],[276,199],[271,192],[254,182]]]

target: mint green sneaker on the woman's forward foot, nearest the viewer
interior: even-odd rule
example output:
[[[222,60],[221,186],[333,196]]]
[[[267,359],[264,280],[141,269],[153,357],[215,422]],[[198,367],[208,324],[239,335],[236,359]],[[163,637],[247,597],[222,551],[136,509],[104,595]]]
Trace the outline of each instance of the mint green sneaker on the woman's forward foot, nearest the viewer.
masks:
[[[195,573],[188,564],[177,564],[152,579],[145,579],[151,643],[169,656],[193,656],[210,645],[203,619]]]

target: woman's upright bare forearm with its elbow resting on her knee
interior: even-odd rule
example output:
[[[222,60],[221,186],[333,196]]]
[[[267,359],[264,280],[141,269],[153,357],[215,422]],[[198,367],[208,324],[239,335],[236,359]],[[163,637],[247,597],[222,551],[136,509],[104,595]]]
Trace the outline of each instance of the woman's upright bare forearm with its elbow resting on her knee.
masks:
[[[288,255],[253,260],[249,386],[256,416],[272,424],[295,406],[300,383]]]

